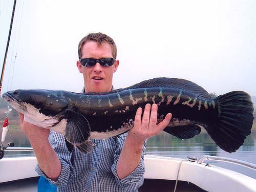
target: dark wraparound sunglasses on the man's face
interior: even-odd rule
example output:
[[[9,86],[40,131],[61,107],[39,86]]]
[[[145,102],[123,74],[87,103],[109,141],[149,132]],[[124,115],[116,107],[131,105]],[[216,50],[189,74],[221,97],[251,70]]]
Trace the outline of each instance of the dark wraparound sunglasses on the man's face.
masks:
[[[83,58],[79,60],[84,67],[92,67],[95,66],[96,63],[100,63],[103,67],[113,66],[116,59],[114,58],[100,58],[100,59],[93,59],[93,58]]]

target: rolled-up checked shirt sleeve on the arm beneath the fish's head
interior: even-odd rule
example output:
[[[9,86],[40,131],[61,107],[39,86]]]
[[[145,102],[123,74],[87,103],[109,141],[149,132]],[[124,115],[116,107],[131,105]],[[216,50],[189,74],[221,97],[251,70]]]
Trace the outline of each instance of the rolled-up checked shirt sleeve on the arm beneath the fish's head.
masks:
[[[45,173],[40,169],[38,164],[35,167],[36,172],[45,177],[52,184],[57,186],[67,185],[68,182],[72,179],[74,175],[73,165],[71,163],[72,154],[68,151],[66,146],[65,136],[53,132],[50,132],[49,142],[52,145],[54,151],[57,153],[57,156],[61,163],[61,172],[57,181],[53,181],[45,175]]]

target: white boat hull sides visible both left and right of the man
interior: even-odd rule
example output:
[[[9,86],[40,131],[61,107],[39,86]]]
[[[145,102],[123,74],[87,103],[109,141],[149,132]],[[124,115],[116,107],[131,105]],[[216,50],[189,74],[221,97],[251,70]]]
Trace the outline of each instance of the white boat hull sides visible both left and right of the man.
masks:
[[[179,158],[145,156],[145,179],[185,181],[206,191],[255,191],[256,180],[218,166],[207,166]],[[35,157],[3,158],[0,160],[0,184],[37,177]],[[12,183],[13,184],[13,183]],[[169,187],[169,186],[168,186]]]

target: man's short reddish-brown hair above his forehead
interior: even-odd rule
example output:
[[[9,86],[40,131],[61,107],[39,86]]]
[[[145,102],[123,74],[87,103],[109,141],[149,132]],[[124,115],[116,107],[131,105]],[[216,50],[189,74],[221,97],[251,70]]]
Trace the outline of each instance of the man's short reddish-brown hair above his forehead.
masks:
[[[108,35],[104,33],[89,33],[87,36],[83,37],[79,44],[78,44],[78,57],[81,59],[82,57],[82,46],[89,40],[96,41],[100,45],[102,42],[107,42],[110,44],[111,49],[112,49],[112,55],[116,59],[117,56],[117,48],[114,40],[109,37]]]

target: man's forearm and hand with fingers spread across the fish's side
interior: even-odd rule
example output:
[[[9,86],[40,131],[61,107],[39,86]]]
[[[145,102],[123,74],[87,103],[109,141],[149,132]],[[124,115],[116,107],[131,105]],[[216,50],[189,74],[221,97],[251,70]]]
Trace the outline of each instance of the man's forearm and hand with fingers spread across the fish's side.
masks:
[[[157,104],[146,104],[142,115],[139,108],[135,115],[134,127],[127,135],[121,154],[117,161],[116,171],[119,179],[122,179],[133,172],[140,163],[144,141],[161,132],[172,119],[168,113],[164,120],[157,124]]]

